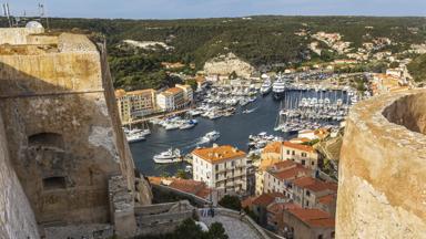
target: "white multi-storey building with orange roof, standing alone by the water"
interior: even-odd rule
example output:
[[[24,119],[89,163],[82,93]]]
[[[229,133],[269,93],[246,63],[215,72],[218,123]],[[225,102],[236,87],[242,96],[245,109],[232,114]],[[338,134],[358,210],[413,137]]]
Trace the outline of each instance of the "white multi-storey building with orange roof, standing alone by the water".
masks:
[[[204,181],[223,194],[247,190],[246,154],[230,145],[196,148],[193,156],[193,179]]]

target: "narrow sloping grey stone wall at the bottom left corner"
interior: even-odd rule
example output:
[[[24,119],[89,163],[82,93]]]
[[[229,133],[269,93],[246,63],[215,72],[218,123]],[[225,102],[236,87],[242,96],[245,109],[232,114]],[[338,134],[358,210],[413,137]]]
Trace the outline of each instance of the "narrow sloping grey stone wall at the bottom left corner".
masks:
[[[6,136],[0,115],[0,238],[38,239],[36,218],[10,164]]]

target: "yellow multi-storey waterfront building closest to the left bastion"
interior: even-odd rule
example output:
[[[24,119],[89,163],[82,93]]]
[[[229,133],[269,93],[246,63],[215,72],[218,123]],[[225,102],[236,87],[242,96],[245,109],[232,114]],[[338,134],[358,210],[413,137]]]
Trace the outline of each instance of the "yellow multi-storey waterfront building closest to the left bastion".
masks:
[[[129,123],[134,117],[143,117],[156,110],[156,96],[153,89],[125,92],[115,91],[116,104],[122,123]]]

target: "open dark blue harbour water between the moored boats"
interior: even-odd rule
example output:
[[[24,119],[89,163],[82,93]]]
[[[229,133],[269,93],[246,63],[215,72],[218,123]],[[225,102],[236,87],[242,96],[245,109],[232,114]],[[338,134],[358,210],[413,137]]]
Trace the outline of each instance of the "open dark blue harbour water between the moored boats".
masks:
[[[325,93],[322,93],[325,94]],[[332,102],[335,93],[327,92]],[[341,93],[338,93],[341,94]],[[342,94],[337,97],[342,97]],[[303,92],[303,97],[320,96],[316,92]],[[296,100],[301,96],[300,91],[287,92],[287,96]],[[323,96],[324,97],[324,96]],[[272,94],[266,97],[258,96],[257,101],[245,106],[247,110],[256,108],[253,113],[242,114],[241,108],[230,117],[221,117],[214,121],[197,117],[199,124],[185,131],[165,131],[159,126],[151,126],[152,134],[146,141],[130,145],[138,169],[146,176],[160,176],[164,173],[174,175],[178,169],[184,168],[185,163],[171,165],[158,165],[152,157],[170,147],[178,147],[183,154],[192,152],[201,142],[201,137],[207,132],[219,131],[221,137],[215,142],[219,145],[230,144],[242,150],[247,150],[248,135],[267,132],[284,138],[291,137],[281,132],[274,132],[276,116],[280,110],[280,102],[273,100]],[[211,146],[212,144],[203,145]]]

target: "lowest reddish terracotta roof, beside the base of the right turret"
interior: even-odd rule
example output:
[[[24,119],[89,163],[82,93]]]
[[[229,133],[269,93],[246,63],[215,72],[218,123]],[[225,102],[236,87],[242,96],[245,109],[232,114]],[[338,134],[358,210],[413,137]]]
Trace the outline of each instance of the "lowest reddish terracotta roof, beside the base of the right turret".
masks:
[[[311,227],[334,227],[335,220],[320,209],[290,208],[287,211]]]

